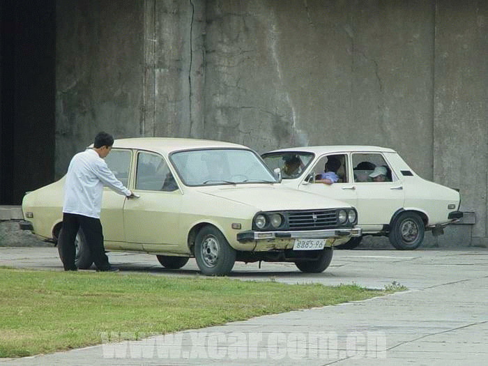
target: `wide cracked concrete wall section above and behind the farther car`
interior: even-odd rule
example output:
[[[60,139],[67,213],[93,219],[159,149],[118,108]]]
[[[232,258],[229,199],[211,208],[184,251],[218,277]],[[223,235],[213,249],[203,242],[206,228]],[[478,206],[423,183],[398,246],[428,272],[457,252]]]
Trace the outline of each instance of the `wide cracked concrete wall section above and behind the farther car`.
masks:
[[[395,146],[432,178],[428,3],[208,3],[206,137]],[[418,22],[409,19],[420,18]]]

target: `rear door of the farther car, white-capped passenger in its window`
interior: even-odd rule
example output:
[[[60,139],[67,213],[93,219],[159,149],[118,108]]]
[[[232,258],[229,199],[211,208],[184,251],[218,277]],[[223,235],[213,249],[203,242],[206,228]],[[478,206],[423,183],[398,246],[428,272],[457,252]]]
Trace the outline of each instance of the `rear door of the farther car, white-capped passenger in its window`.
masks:
[[[381,230],[384,224],[390,223],[392,215],[404,206],[402,181],[381,153],[352,153],[351,160],[358,224],[365,231]],[[376,172],[383,171],[386,172],[384,181],[376,181],[378,177],[372,177],[378,174]]]

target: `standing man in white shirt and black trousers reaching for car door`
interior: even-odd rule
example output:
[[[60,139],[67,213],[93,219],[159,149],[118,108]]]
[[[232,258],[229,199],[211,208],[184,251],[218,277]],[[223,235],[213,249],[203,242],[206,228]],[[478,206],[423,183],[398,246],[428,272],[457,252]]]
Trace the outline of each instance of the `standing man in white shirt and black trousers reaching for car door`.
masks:
[[[77,270],[75,265],[75,239],[81,227],[98,270],[115,272],[109,264],[103,247],[100,222],[103,186],[127,198],[136,197],[119,181],[103,160],[112,150],[114,138],[106,132],[95,137],[93,148],[77,153],[66,174],[63,205],[63,230],[58,245],[64,270]]]

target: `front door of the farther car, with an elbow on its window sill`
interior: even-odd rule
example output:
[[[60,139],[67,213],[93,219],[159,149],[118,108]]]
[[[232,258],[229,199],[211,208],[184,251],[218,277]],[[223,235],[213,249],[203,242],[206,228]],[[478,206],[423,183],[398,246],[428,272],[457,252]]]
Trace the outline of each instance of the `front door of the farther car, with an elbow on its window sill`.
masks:
[[[313,174],[315,178],[318,179],[319,175],[324,172],[326,163],[330,158],[337,158],[337,160],[340,160],[341,162],[339,169],[337,169],[337,175],[340,178],[339,181],[337,181],[337,183],[328,185],[326,183],[319,182],[309,183],[309,181],[304,179],[300,183],[300,190],[305,190],[307,192],[313,192],[317,193],[318,195],[344,201],[347,204],[356,207],[357,195],[353,182],[351,181],[349,154],[331,153],[321,155],[312,165],[310,171],[307,171],[307,174],[304,176],[310,176],[310,174]]]

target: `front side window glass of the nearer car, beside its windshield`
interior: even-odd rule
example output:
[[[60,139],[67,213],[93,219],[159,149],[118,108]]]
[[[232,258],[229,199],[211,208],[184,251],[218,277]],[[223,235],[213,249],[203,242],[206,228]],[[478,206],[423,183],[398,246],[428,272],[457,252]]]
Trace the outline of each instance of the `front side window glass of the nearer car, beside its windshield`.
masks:
[[[178,189],[164,158],[155,153],[137,154],[135,189],[173,192]]]

